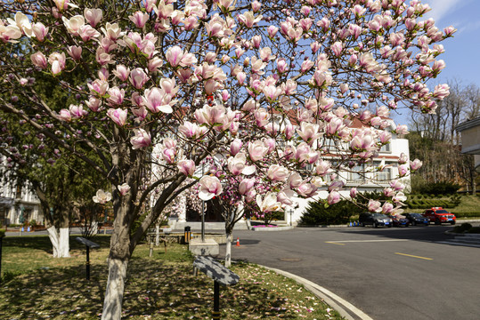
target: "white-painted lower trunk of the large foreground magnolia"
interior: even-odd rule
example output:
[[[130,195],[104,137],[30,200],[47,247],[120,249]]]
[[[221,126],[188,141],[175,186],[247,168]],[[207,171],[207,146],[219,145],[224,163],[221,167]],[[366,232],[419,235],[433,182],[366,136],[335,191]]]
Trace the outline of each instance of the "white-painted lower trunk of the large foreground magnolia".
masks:
[[[126,280],[128,260],[109,260],[109,279],[105,300],[103,300],[102,320],[120,320]]]

